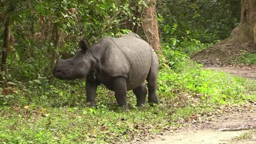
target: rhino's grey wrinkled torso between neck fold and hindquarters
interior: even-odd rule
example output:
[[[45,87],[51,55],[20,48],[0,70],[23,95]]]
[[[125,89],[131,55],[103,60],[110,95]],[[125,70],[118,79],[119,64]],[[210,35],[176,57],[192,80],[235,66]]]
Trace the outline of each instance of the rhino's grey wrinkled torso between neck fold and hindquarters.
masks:
[[[137,34],[130,33],[120,38],[108,37],[108,60],[106,66],[111,76],[126,77],[127,90],[141,85],[148,76],[152,50]]]

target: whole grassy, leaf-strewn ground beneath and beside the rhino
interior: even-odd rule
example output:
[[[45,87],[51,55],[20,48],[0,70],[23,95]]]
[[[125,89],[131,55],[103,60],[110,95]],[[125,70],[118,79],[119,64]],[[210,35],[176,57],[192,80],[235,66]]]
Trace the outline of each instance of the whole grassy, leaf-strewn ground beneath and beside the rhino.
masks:
[[[30,82],[25,94],[17,90],[16,99],[2,100],[0,143],[124,143],[147,139],[219,105],[255,100],[253,81],[203,70],[191,61],[177,65],[175,70],[166,65],[159,70],[160,105],[137,108],[128,92],[129,111],[119,109],[110,96],[114,93],[105,87],[98,89],[97,107],[87,108],[84,82]]]

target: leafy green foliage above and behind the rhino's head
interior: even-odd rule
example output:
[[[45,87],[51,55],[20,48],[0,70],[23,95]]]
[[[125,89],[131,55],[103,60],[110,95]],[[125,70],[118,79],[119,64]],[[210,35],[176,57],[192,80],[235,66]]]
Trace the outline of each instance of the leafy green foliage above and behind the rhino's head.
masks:
[[[33,80],[37,76],[49,76],[51,57],[69,58],[77,50],[81,37],[90,43],[103,36],[119,37],[130,30],[122,26],[127,22],[137,24],[140,18],[133,11],[141,10],[145,2],[129,1],[8,1],[3,15],[10,15],[15,26],[10,27],[14,44],[8,54],[9,73],[18,81]],[[7,11],[7,7],[14,7]],[[59,41],[55,39],[58,26]],[[0,28],[1,38],[3,29]],[[3,40],[0,39],[0,45]],[[60,46],[60,49],[57,46]],[[54,56],[57,54],[57,56]],[[49,59],[50,58],[50,59]],[[19,76],[18,76],[19,75]],[[47,77],[49,78],[49,77]]]

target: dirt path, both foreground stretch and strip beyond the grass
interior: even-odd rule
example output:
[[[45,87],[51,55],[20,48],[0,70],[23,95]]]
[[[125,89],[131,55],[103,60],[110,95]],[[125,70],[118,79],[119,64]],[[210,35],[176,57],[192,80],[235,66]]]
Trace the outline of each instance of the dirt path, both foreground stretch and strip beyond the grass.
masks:
[[[217,67],[205,65],[205,69],[223,71],[237,76],[255,79],[255,66],[226,66]],[[154,140],[144,142],[149,143],[210,143],[210,144],[251,144],[256,143],[256,102],[251,101],[250,106],[230,106],[225,109],[218,109],[221,113],[209,114],[201,122],[195,120],[180,129],[171,130],[167,134],[158,135]],[[201,116],[199,116],[201,117]],[[203,120],[204,119],[204,120]]]

